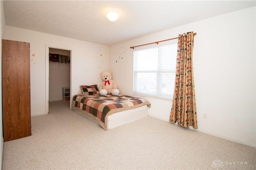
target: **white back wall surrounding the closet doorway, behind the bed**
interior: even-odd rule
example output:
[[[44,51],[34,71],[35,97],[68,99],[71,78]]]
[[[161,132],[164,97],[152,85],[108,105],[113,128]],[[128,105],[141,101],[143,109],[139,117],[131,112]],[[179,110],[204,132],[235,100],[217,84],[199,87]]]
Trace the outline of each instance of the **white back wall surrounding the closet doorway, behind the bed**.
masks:
[[[46,46],[72,49],[72,94],[80,85],[101,83],[100,72],[108,70],[109,46],[6,26],[7,40],[30,43],[31,116],[46,114]],[[33,57],[32,54],[35,56]],[[32,61],[33,60],[33,61]],[[76,76],[76,79],[74,79]]]

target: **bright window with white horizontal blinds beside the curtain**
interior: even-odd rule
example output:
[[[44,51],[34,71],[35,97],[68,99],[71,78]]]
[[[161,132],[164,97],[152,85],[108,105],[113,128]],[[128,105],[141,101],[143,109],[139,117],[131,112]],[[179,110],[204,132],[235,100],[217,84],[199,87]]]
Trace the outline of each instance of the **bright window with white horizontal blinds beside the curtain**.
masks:
[[[134,51],[134,93],[173,99],[177,42]]]

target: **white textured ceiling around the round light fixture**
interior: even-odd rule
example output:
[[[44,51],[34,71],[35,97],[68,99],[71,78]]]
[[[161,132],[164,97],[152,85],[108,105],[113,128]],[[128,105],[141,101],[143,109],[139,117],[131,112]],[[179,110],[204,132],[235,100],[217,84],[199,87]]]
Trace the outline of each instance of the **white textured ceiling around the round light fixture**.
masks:
[[[4,15],[6,26],[113,45],[255,5],[255,0],[4,0]],[[116,22],[106,18],[110,9],[119,13]]]

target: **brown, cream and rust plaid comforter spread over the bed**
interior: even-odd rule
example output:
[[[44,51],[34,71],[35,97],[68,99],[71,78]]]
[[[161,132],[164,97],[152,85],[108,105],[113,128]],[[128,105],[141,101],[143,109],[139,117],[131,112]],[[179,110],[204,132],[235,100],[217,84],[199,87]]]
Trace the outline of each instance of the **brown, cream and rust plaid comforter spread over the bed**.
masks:
[[[150,103],[145,99],[138,97],[131,97],[127,95],[75,95],[72,101],[72,109],[78,110],[86,115],[92,117],[99,124],[107,130],[108,115],[112,113],[134,109]]]

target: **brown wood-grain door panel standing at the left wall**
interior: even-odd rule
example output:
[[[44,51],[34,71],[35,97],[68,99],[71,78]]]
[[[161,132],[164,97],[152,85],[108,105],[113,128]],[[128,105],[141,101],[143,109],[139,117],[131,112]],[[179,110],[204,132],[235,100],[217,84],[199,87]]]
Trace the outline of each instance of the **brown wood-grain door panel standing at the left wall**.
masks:
[[[31,135],[29,43],[2,41],[4,141]]]

